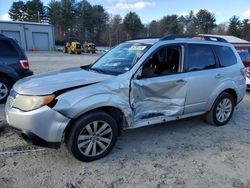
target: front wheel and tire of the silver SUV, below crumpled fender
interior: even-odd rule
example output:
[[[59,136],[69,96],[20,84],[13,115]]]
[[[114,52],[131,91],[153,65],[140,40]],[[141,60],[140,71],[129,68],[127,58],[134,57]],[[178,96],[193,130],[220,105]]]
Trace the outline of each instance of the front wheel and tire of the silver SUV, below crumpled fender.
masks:
[[[106,156],[114,147],[118,128],[107,113],[93,112],[79,118],[66,138],[69,151],[80,161],[90,162]]]

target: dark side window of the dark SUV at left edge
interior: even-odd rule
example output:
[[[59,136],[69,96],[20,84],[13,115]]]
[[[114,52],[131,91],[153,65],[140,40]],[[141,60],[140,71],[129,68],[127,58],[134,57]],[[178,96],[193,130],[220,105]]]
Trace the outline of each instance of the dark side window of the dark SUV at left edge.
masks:
[[[0,57],[16,57],[18,52],[8,40],[0,40]]]

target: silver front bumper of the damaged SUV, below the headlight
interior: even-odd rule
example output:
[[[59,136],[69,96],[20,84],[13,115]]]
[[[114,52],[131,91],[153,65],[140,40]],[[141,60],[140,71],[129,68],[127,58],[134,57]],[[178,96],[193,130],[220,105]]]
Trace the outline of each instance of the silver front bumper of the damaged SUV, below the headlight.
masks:
[[[11,107],[11,97],[5,106],[8,124],[22,132],[23,138],[35,145],[58,148],[70,119],[48,106],[23,112]]]

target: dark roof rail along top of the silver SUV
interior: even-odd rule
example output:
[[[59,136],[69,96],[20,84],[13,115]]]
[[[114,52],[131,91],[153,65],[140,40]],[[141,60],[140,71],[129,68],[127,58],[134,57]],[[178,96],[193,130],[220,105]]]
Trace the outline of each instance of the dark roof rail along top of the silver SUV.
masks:
[[[226,42],[222,37],[217,37],[214,35],[206,35],[206,34],[198,34],[198,35],[169,35],[166,37],[161,38],[161,41],[163,40],[175,40],[175,39],[200,39],[200,40],[207,40],[207,41],[216,41],[216,42]]]

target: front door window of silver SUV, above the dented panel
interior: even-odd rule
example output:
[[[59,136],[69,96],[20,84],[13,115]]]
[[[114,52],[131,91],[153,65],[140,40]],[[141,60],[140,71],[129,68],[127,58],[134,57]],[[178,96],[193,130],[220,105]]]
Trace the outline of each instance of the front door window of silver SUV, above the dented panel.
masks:
[[[142,78],[176,74],[180,72],[181,47],[167,46],[159,49],[142,67]]]

